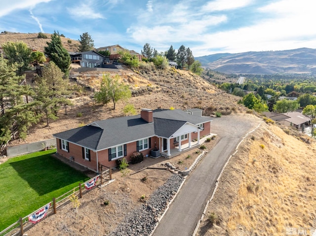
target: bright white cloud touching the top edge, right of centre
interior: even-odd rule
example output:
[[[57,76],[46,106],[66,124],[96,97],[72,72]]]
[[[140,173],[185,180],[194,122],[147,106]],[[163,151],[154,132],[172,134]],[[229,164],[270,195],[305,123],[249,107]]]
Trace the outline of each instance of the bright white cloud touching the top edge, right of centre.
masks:
[[[223,11],[232,10],[249,5],[252,0],[214,0],[209,1],[203,6],[203,11]]]

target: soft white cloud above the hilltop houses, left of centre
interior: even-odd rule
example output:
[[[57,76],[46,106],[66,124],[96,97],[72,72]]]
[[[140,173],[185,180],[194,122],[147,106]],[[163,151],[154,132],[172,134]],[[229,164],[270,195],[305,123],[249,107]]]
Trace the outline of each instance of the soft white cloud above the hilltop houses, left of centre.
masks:
[[[92,8],[91,3],[82,3],[74,7],[67,7],[67,11],[72,15],[74,19],[105,19],[100,13],[96,12]]]

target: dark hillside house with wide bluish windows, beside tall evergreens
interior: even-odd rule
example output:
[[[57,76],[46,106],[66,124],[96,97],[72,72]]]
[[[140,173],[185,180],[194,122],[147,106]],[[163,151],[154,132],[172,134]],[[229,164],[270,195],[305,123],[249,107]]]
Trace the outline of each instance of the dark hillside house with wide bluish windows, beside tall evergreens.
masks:
[[[81,67],[97,67],[104,62],[104,56],[96,51],[69,52],[71,62]]]

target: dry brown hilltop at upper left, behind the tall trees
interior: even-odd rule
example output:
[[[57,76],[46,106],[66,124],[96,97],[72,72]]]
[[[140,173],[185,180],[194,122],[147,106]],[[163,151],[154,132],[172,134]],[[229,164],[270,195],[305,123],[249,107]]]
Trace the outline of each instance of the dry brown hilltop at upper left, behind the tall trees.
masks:
[[[51,40],[51,34],[46,34],[47,38],[38,38],[39,33],[1,33],[0,34],[0,45],[6,43],[8,41],[17,42],[23,41],[25,42],[30,48],[34,48],[35,50],[44,51],[44,47],[47,46],[46,42]],[[79,41],[73,40],[66,37],[60,37],[63,46],[70,52],[78,52]],[[71,43],[68,42],[71,40]]]

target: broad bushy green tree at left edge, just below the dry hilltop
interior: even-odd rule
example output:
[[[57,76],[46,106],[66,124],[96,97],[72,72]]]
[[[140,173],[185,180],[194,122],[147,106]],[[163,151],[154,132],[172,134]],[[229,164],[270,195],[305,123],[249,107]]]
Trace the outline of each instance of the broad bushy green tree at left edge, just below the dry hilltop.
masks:
[[[22,75],[30,68],[30,56],[32,49],[24,42],[7,42],[2,44],[3,51],[10,65],[17,63],[17,75]]]

